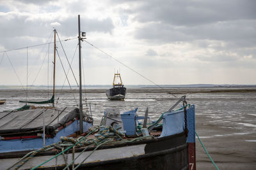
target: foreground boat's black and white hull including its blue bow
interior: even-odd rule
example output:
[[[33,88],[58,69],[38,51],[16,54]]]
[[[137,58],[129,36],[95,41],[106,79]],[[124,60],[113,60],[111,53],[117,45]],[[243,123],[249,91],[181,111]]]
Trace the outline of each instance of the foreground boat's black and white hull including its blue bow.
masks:
[[[136,112],[136,111],[135,111]],[[129,113],[131,116],[132,114]],[[61,150],[39,152],[20,169],[63,169],[67,164],[78,169],[195,169],[195,106],[187,109],[188,136],[184,132],[184,111],[172,111],[163,115],[163,129],[159,136],[141,140],[119,141],[99,148],[74,148],[55,157]],[[127,118],[125,118],[127,120]],[[132,118],[134,120],[134,117]],[[89,137],[88,137],[89,138]],[[136,139],[138,139],[136,141]],[[135,141],[134,141],[135,140]],[[191,148],[193,146],[193,149]],[[58,148],[58,147],[57,147]],[[97,149],[97,150],[95,150]],[[94,151],[93,151],[94,150]],[[191,153],[194,152],[194,153]],[[0,153],[0,169],[13,166],[27,152]],[[74,155],[74,156],[73,156]],[[42,164],[44,162],[44,164]],[[71,165],[72,166],[72,165]],[[70,166],[70,169],[72,168]],[[190,167],[189,167],[190,166]],[[14,167],[13,167],[14,168]]]

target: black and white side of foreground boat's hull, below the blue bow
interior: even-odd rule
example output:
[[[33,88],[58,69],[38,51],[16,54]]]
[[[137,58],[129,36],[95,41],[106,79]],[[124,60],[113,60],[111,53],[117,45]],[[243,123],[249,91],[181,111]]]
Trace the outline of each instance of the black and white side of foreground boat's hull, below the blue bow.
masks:
[[[75,157],[83,148],[76,149]],[[76,162],[82,162],[93,148],[83,152]],[[26,153],[6,153],[0,155],[0,169],[12,166]],[[21,169],[31,169],[38,164],[51,159],[56,152],[38,153]],[[19,157],[19,158],[18,158]],[[72,152],[65,154],[67,162],[73,159]],[[5,158],[5,159],[4,159]],[[75,166],[77,163],[75,162]],[[52,159],[41,169],[63,169],[65,160],[63,156]],[[188,143],[184,132],[163,138],[148,139],[119,145],[102,146],[90,155],[78,169],[188,169]]]

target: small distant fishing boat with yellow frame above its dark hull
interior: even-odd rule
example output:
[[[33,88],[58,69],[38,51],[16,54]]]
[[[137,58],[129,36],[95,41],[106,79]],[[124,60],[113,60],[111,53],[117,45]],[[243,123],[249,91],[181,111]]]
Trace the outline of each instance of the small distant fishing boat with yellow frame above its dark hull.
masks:
[[[113,79],[113,88],[106,90],[106,96],[109,100],[124,100],[126,88],[124,87],[120,73],[115,73]]]

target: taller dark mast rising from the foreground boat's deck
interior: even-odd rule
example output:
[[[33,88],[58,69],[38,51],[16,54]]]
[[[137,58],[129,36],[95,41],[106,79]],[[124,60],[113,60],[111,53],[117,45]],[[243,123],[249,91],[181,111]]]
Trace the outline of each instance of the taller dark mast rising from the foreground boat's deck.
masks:
[[[81,35],[80,15],[78,15],[78,40],[79,40],[79,113],[80,113],[80,134],[83,134],[83,104],[82,104],[82,72],[81,72]]]

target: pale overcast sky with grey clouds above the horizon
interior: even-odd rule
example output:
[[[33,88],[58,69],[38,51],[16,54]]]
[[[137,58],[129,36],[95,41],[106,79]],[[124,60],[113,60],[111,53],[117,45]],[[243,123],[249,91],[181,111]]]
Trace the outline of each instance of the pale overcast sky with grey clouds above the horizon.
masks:
[[[125,85],[152,85],[134,71],[159,85],[256,84],[255,9],[254,0],[0,0],[0,85],[51,83],[52,45],[4,51],[52,42],[53,27],[71,39],[62,45],[78,75],[78,14],[86,41],[114,57],[84,41],[86,85],[111,85],[116,70]],[[68,84],[63,62],[75,85],[57,46],[56,83]]]

